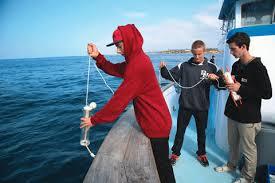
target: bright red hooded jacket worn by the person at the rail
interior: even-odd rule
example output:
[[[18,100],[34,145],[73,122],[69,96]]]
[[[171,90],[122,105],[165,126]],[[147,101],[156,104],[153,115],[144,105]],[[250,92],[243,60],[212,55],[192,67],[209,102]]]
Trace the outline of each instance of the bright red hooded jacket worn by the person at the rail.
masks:
[[[113,64],[101,54],[95,59],[105,73],[123,78],[109,102],[91,117],[92,124],[113,122],[133,101],[137,122],[149,138],[167,138],[171,116],[150,58],[143,52],[143,38],[133,24],[119,26],[125,60]]]

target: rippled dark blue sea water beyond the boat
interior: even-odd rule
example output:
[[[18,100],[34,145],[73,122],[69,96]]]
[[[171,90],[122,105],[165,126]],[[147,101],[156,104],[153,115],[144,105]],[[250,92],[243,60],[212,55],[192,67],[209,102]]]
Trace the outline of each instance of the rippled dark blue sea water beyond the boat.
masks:
[[[160,60],[168,68],[190,54],[149,54],[156,75]],[[207,58],[210,55],[206,55]],[[118,55],[107,56],[114,62]],[[221,55],[216,55],[221,63]],[[0,60],[0,182],[82,182],[92,158],[80,146],[80,118],[86,97],[88,57]],[[111,88],[121,79],[102,72]],[[161,85],[168,81],[161,79]],[[93,61],[89,103],[97,110],[112,97]],[[90,148],[97,152],[113,124],[90,130]]]

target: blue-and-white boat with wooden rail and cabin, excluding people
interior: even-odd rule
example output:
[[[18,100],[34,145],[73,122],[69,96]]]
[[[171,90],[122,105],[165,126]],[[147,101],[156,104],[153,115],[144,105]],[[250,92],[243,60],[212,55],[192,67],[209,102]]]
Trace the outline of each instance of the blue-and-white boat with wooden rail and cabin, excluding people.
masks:
[[[250,53],[261,57],[268,70],[272,86],[275,86],[275,1],[274,0],[224,0],[219,19],[223,21],[222,68],[231,68],[236,59],[230,55],[225,43],[235,32],[246,32],[251,37]],[[273,72],[272,72],[273,71]],[[163,88],[173,119],[170,146],[176,133],[179,89],[173,83]],[[194,123],[185,133],[182,157],[173,167],[176,181],[231,182],[238,176],[216,173],[213,168],[227,160],[227,118],[224,115],[227,91],[211,91],[211,105],[207,129],[207,155],[210,166],[202,167],[196,160],[196,131]],[[262,101],[262,131],[257,137],[258,165],[275,165],[275,97]],[[126,183],[159,182],[150,141],[140,131],[133,109],[124,113],[113,126],[101,145],[84,182]]]

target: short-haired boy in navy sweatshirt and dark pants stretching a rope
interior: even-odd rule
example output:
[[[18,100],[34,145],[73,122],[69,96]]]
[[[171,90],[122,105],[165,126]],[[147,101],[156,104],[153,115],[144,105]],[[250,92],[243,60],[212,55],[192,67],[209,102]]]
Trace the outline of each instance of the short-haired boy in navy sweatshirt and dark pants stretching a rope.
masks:
[[[208,120],[209,93],[210,85],[219,77],[216,75],[218,72],[217,66],[207,61],[204,53],[204,42],[197,40],[192,44],[193,57],[187,62],[179,64],[170,71],[165,67],[164,62],[160,63],[161,76],[163,78],[171,81],[175,80],[181,86],[184,86],[184,88],[181,89],[179,98],[177,132],[170,157],[172,165],[179,159],[185,130],[192,115],[195,117],[197,128],[197,159],[203,166],[209,165],[205,151],[205,130]],[[171,76],[173,76],[173,78]]]

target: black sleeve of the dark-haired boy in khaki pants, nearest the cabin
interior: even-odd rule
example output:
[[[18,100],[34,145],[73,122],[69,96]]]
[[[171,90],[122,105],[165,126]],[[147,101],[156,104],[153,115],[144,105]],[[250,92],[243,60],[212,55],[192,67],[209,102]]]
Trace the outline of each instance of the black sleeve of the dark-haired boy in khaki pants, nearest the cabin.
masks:
[[[255,71],[255,85],[241,85],[237,92],[242,97],[259,97],[262,99],[270,99],[272,97],[272,88],[270,79],[265,66],[258,67]]]

